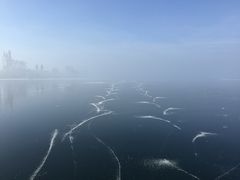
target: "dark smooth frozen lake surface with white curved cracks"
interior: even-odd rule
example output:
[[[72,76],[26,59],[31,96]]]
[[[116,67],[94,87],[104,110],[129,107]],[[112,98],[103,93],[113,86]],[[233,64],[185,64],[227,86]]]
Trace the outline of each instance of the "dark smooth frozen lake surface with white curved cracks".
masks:
[[[239,81],[0,81],[1,180],[237,180],[239,137]]]

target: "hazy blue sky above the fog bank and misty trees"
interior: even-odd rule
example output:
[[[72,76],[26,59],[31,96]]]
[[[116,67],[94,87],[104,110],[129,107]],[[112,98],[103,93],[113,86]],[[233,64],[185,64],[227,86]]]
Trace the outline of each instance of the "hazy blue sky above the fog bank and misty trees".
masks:
[[[0,0],[0,52],[106,76],[136,64],[139,73],[198,66],[209,75],[218,64],[236,76],[239,10],[238,0]]]

